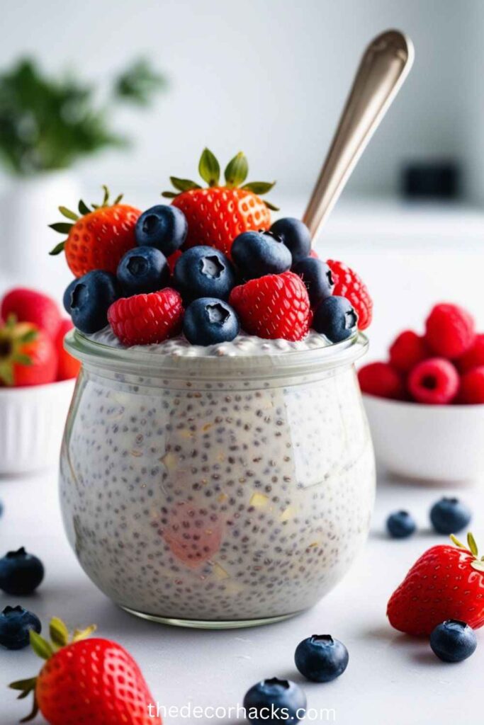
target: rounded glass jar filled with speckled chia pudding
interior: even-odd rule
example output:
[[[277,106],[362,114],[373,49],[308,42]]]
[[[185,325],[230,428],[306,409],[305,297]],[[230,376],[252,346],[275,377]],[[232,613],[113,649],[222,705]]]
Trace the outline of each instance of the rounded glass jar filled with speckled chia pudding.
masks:
[[[364,336],[303,352],[173,357],[77,331],[60,498],[81,566],[169,624],[263,624],[311,607],[366,539],[374,455]]]

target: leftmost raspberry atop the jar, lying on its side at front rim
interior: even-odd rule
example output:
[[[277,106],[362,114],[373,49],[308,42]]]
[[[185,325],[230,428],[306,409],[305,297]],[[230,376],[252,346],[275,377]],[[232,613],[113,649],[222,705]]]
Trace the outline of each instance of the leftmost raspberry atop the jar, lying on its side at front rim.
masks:
[[[118,299],[107,310],[107,319],[124,345],[147,345],[178,334],[183,313],[179,293],[167,287]]]

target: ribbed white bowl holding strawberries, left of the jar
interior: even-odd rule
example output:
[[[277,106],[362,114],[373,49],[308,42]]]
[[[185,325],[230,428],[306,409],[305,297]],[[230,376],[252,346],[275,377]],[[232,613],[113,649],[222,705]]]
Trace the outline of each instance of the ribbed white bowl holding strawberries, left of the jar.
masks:
[[[0,474],[57,464],[75,380],[0,388]]]

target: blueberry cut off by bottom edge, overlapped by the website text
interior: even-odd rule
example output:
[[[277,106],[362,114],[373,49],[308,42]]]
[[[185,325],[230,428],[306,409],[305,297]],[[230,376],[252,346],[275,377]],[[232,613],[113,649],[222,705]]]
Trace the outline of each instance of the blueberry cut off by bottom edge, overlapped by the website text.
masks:
[[[306,698],[295,682],[272,677],[247,690],[244,708],[247,720],[255,725],[292,724],[305,716]]]

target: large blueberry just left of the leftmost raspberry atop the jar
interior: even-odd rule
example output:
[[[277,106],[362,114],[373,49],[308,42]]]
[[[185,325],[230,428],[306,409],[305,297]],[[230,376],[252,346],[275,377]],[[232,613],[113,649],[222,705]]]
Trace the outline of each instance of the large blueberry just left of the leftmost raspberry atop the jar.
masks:
[[[107,310],[119,297],[118,281],[110,272],[93,270],[71,282],[64,305],[78,330],[91,334],[107,325]]]

